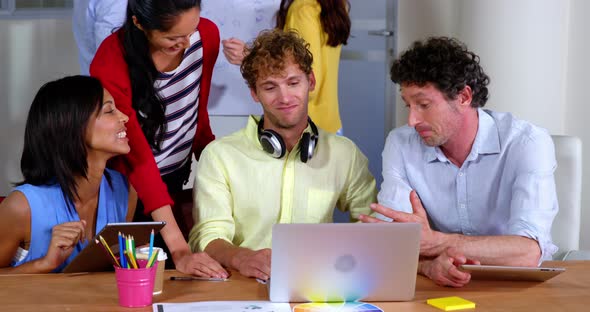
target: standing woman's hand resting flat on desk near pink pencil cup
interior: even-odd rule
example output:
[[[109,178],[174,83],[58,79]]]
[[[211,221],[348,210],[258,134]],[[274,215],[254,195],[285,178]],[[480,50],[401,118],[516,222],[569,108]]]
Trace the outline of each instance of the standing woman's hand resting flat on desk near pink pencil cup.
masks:
[[[204,252],[187,252],[180,255],[178,261],[174,261],[174,264],[176,265],[176,270],[186,274],[215,278],[229,277],[229,274],[221,264]]]

